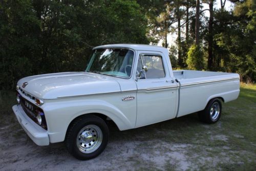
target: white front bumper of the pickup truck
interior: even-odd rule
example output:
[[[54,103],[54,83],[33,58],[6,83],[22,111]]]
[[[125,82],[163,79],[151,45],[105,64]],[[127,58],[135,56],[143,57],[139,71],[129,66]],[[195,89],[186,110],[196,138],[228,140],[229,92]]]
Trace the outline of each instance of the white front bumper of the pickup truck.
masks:
[[[48,132],[44,128],[41,128],[34,121],[32,121],[23,110],[22,106],[14,105],[12,106],[17,120],[27,135],[36,143],[37,145],[49,145]]]

